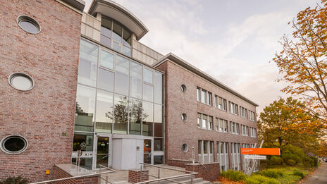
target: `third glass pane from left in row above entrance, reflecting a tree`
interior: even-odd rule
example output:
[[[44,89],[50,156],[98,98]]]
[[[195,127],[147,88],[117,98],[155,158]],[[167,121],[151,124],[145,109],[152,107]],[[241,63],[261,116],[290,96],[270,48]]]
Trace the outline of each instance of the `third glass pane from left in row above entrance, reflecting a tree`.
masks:
[[[113,119],[113,133],[127,134],[128,97],[115,94]]]

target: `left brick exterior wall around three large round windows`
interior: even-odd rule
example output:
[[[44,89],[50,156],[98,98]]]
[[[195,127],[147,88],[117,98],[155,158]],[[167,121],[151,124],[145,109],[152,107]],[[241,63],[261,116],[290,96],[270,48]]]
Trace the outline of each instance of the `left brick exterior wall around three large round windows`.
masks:
[[[38,21],[39,34],[18,26],[22,14]],[[22,135],[29,143],[21,154],[0,150],[0,179],[48,180],[54,164],[71,160],[81,15],[53,0],[12,0],[2,2],[0,17],[0,140]],[[30,75],[35,87],[11,87],[14,72]]]

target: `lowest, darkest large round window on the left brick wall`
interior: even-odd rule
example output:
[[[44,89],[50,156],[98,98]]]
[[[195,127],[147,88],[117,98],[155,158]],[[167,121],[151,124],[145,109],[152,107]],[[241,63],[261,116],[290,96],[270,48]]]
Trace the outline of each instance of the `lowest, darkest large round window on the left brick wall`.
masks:
[[[2,151],[7,154],[20,154],[27,149],[28,142],[20,135],[9,135],[0,142]]]

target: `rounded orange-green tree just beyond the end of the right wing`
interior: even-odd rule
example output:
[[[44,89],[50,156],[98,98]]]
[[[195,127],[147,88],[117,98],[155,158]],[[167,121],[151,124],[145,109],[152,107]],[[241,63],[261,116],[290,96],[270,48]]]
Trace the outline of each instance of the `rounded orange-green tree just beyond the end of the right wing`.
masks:
[[[296,145],[304,152],[316,152],[319,147],[323,121],[309,114],[305,105],[297,99],[280,98],[264,108],[258,121],[259,139],[266,146],[283,147]]]

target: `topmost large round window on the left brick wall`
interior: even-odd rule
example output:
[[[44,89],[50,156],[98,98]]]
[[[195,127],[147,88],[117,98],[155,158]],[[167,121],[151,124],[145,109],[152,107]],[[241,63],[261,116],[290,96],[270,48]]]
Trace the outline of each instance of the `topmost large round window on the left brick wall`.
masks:
[[[18,16],[17,23],[20,28],[31,34],[37,34],[41,31],[41,27],[39,23],[37,23],[37,20],[29,16]]]

